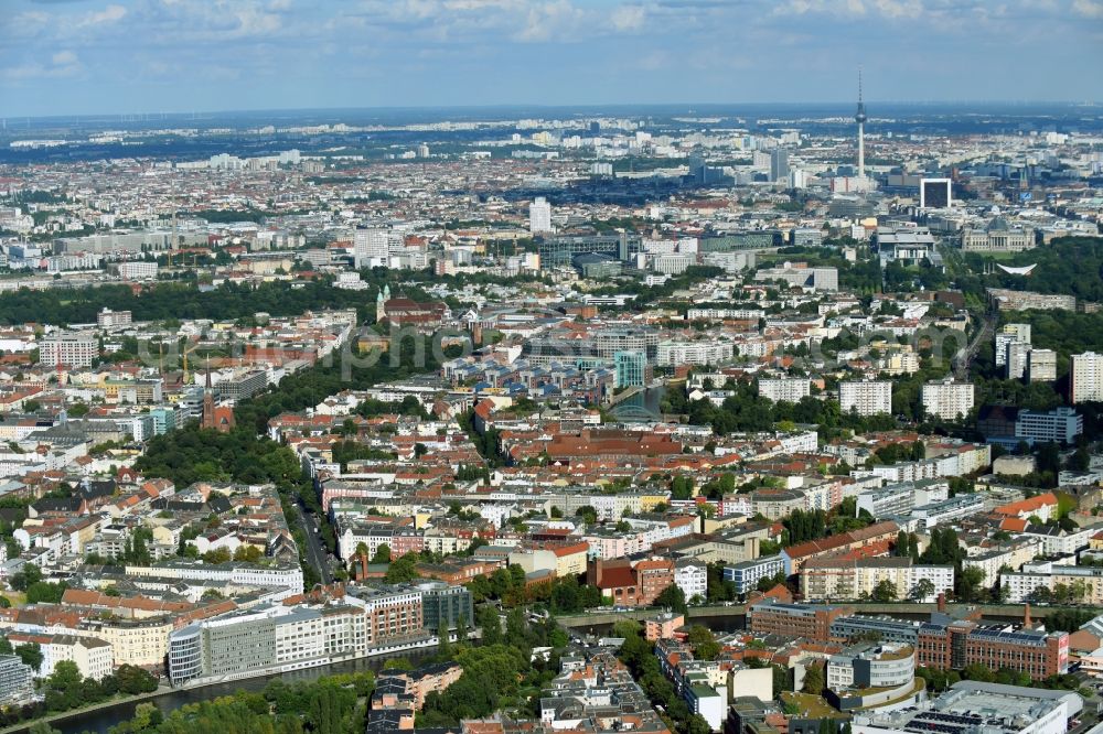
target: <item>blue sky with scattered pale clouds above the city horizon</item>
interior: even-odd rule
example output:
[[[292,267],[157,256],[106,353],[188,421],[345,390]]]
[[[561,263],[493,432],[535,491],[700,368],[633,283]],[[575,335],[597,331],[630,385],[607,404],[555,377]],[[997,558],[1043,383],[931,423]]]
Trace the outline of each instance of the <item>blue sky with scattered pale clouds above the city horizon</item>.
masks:
[[[0,116],[1103,101],[1103,0],[0,0]]]

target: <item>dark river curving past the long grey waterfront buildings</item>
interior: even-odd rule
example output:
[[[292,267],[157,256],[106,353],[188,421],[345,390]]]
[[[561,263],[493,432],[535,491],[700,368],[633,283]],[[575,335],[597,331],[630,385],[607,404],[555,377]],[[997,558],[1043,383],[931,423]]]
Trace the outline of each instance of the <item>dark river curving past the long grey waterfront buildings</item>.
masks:
[[[436,654],[436,647],[404,650],[389,655],[345,660],[329,666],[319,666],[318,668],[295,670],[278,676],[247,678],[226,683],[213,683],[211,686],[202,686],[199,688],[172,690],[168,693],[163,693],[151,699],[144,699],[142,701],[122,701],[104,709],[75,713],[71,716],[56,719],[50,722],[50,725],[61,731],[62,734],[84,734],[85,732],[107,734],[108,730],[113,726],[132,719],[135,709],[139,703],[152,703],[160,709],[162,713],[168,715],[172,711],[189,703],[199,703],[200,701],[207,701],[222,695],[232,695],[237,691],[259,691],[264,689],[264,687],[267,686],[268,681],[272,678],[282,678],[288,682],[296,682],[315,680],[322,676],[333,676],[336,673],[363,672],[365,670],[378,671],[383,668],[384,663],[392,658],[406,658],[416,665],[419,661],[431,657]],[[33,723],[34,722],[29,722],[28,728],[30,728]],[[18,734],[23,734],[28,731],[28,728],[18,730]]]

